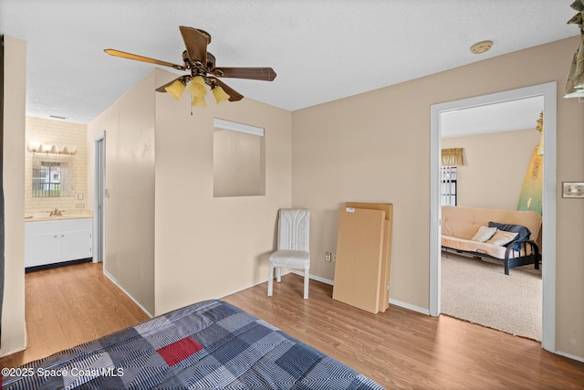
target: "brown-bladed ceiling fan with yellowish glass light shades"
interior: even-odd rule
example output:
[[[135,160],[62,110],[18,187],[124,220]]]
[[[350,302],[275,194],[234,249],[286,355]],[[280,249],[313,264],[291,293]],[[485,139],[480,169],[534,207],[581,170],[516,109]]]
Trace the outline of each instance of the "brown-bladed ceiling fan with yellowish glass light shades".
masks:
[[[193,106],[204,107],[204,95],[207,92],[205,85],[208,85],[217,103],[225,100],[238,101],[244,96],[226,85],[219,78],[235,79],[258,79],[272,81],[276,79],[276,72],[271,68],[225,68],[215,67],[214,55],[207,51],[207,45],[211,43],[211,35],[206,31],[198,28],[179,26],[183,36],[184,46],[183,65],[172,64],[171,62],[160,59],[147,58],[135,54],[126,53],[113,48],[107,48],[104,51],[110,56],[129,58],[151,64],[162,65],[178,70],[188,70],[191,74],[173,79],[171,82],[157,88],[158,92],[168,92],[176,100],[181,98],[187,83],[189,91],[193,95]]]

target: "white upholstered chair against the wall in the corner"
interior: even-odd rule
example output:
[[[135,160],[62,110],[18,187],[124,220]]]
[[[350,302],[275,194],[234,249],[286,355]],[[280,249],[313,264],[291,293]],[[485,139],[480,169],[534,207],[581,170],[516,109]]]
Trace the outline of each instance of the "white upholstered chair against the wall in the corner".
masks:
[[[274,269],[276,280],[282,281],[281,267],[304,269],[304,299],[308,300],[308,270],[310,269],[310,212],[304,209],[283,208],[277,224],[277,250],[269,258],[267,296],[272,296]]]

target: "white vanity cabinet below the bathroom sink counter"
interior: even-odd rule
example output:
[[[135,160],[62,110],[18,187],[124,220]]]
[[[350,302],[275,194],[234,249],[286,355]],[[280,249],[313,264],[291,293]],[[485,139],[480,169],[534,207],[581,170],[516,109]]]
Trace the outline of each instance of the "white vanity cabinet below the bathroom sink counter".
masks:
[[[25,223],[25,267],[91,258],[92,218]]]

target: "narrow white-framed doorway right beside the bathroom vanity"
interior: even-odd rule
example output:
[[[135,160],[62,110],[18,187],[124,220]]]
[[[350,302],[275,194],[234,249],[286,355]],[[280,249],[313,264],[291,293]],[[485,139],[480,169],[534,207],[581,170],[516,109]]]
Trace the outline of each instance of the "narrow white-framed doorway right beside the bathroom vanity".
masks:
[[[93,262],[101,263],[105,253],[105,183],[106,183],[106,133],[100,132],[94,139],[95,194],[93,210]]]

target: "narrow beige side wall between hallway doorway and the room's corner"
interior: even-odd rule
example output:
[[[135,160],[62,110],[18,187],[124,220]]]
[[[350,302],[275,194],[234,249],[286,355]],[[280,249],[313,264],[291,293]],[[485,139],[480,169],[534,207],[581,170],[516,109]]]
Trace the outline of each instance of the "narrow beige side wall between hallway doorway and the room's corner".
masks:
[[[106,133],[104,270],[154,313],[153,73],[88,125],[89,206],[94,204],[95,137]]]

